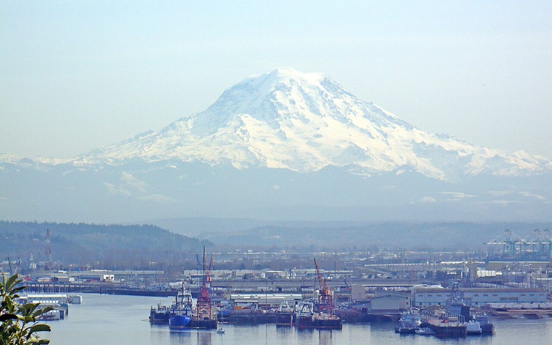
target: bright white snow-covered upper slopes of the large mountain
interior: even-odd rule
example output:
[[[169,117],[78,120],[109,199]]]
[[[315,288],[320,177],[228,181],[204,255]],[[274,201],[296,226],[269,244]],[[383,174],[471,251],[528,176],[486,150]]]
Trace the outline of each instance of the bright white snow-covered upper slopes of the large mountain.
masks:
[[[363,102],[325,75],[290,68],[247,78],[204,112],[179,119],[160,132],[99,148],[74,163],[136,157],[298,172],[351,166],[367,175],[410,166],[442,180],[480,173],[524,176],[552,169],[549,158],[424,132]]]

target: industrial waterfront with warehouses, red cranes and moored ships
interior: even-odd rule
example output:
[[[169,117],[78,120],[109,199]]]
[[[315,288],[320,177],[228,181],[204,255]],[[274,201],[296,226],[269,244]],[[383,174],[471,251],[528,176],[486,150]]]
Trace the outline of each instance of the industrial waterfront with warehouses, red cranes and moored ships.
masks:
[[[369,332],[369,336],[357,336],[373,335],[378,343],[419,341],[404,338],[407,335],[490,342],[487,337],[502,332],[500,325],[527,325],[529,320],[545,327],[550,324],[550,243],[549,230],[534,231],[525,239],[508,230],[489,243],[502,250],[487,253],[238,250],[208,254],[203,246],[203,256],[193,254],[193,265],[184,259],[181,268],[164,272],[54,262],[46,231],[44,262],[35,263],[30,256],[26,263],[8,258],[3,264],[11,272],[22,273],[26,286],[22,302],[53,307],[43,321],[56,322],[61,330],[70,320],[79,320],[80,311],[95,306],[93,322],[126,320],[120,331],[134,328],[130,325],[137,321],[149,321],[136,324],[137,333],[147,330],[142,339],[168,336],[170,342],[195,334],[199,343],[205,343],[227,334],[244,343],[246,339],[240,338],[244,333],[261,330],[266,343],[309,343],[309,335],[318,335],[312,341],[319,343],[349,342],[351,332]],[[150,305],[142,305],[145,301]],[[244,332],[239,327],[245,327]]]

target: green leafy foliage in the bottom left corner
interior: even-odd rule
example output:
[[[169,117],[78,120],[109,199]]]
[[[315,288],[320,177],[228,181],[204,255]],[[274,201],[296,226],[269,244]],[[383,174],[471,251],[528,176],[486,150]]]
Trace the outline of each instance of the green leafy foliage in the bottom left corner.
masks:
[[[23,280],[17,274],[6,279],[2,273],[0,282],[0,345],[4,344],[48,344],[48,339],[41,339],[37,332],[50,332],[50,326],[36,322],[36,319],[52,307],[38,309],[39,303],[20,304],[18,292],[25,286],[18,286]]]

